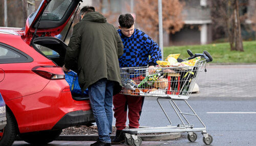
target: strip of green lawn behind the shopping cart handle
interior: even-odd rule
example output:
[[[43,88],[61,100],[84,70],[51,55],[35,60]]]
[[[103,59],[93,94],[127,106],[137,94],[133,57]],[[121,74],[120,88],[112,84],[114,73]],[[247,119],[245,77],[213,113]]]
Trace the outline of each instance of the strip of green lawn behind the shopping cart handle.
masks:
[[[180,53],[180,58],[188,58],[187,50],[194,54],[208,51],[213,60],[210,63],[256,63],[256,41],[244,41],[244,52],[230,51],[229,43],[212,43],[206,45],[184,45],[164,47],[164,59],[169,54]]]

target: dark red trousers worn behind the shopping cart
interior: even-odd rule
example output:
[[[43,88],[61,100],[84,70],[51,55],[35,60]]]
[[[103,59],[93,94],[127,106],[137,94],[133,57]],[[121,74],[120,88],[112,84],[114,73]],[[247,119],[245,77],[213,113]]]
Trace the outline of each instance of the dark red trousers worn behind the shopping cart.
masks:
[[[144,102],[143,96],[131,96],[124,94],[116,94],[113,97],[114,105],[114,117],[116,118],[116,128],[117,130],[125,129],[126,118],[127,118],[127,108],[128,108],[128,118],[129,127],[139,128],[139,119]]]

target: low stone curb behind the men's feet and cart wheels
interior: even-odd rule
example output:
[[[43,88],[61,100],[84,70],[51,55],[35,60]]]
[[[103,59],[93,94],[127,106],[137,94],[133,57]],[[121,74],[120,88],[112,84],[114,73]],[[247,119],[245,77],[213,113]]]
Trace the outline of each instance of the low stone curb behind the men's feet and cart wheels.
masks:
[[[115,135],[110,136],[111,139]],[[167,133],[159,135],[140,135],[139,136],[143,141],[159,141],[159,140],[170,140],[177,139],[181,137],[180,133]],[[56,140],[63,141],[97,141],[98,135],[60,135]]]

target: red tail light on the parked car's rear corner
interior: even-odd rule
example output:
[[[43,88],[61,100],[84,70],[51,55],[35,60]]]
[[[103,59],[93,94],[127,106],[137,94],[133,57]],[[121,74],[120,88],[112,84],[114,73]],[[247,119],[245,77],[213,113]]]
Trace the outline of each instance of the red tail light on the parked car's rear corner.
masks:
[[[60,66],[36,66],[32,68],[32,71],[48,80],[65,79],[65,74]]]

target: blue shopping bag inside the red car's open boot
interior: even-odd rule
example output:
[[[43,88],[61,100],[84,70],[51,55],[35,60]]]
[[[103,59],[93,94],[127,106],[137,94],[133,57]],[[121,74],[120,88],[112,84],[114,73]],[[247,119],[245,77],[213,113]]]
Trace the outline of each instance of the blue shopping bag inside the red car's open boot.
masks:
[[[73,94],[86,94],[88,95],[88,89],[86,89],[83,93],[78,83],[78,76],[75,71],[71,70],[69,72],[65,72],[65,79],[69,83],[70,91]]]

